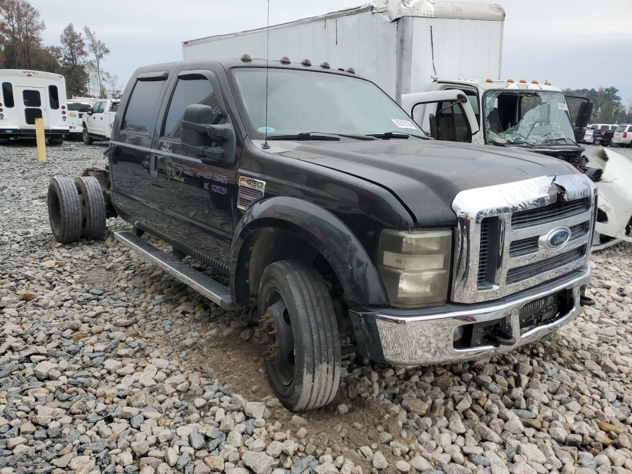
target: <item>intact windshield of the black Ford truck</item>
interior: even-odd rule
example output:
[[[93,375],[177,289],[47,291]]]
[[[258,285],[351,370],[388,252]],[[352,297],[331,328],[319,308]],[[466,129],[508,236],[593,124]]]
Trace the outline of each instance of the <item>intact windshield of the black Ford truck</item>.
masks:
[[[233,76],[254,138],[265,132],[264,68],[236,68]],[[268,70],[268,137],[304,132],[370,135],[422,130],[373,83],[331,73]]]

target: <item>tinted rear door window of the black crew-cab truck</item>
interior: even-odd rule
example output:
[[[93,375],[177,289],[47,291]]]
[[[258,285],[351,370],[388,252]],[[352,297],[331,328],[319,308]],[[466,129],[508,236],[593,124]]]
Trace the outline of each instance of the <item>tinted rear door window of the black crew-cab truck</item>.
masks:
[[[155,106],[163,81],[138,81],[131,92],[121,128],[135,133],[149,133],[155,125]]]

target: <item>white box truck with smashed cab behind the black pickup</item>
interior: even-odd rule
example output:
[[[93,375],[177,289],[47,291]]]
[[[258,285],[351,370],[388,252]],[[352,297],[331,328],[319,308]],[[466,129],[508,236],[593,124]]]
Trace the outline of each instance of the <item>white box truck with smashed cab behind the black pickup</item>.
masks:
[[[597,181],[603,171],[594,248],[632,241],[632,173],[625,159],[608,152],[611,159],[598,161],[597,170],[583,155],[575,132],[590,119],[587,99],[574,98],[571,117],[561,89],[548,82],[500,80],[504,20],[498,4],[374,0],[269,28],[185,41],[182,51],[184,59],[248,54],[270,59],[270,67],[289,58],[309,59],[313,66],[305,67],[351,68],[377,83],[437,140],[552,155]]]

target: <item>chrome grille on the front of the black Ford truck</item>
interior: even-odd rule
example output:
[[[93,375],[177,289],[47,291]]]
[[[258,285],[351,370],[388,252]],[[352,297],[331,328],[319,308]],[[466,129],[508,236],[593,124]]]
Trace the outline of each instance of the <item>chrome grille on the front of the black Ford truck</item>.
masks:
[[[596,195],[582,174],[461,191],[451,300],[494,300],[586,267]],[[557,228],[571,236],[556,248]]]

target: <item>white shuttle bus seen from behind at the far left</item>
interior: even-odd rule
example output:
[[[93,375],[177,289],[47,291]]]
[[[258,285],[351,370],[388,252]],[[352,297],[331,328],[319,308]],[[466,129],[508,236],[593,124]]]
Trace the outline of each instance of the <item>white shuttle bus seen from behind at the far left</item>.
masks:
[[[44,135],[59,145],[68,133],[66,80],[44,71],[0,69],[0,142],[35,137],[35,118],[44,119]]]

